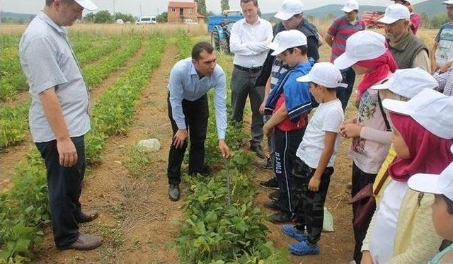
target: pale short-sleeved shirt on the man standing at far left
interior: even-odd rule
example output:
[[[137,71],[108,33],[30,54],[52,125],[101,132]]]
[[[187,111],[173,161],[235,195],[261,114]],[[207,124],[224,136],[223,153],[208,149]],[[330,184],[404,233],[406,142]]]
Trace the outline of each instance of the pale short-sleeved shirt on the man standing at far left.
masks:
[[[69,135],[86,134],[90,130],[88,89],[69,44],[67,30],[45,13],[38,13],[22,35],[19,56],[30,85],[32,101],[28,120],[33,142],[55,139],[39,96],[52,87],[55,87]]]

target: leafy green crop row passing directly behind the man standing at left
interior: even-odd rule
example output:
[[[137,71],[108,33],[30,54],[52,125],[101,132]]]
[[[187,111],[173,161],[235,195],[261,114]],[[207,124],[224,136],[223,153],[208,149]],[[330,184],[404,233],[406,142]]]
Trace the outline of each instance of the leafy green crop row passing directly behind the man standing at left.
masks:
[[[86,137],[86,156],[99,157],[111,134],[126,130],[134,105],[159,67],[164,49],[161,35],[152,35],[141,59],[127,69],[93,106],[92,127]],[[97,139],[102,139],[97,141]],[[92,144],[100,144],[93,149]],[[33,246],[42,238],[42,227],[49,223],[47,182],[38,151],[33,148],[27,161],[18,164],[11,190],[0,193],[0,263],[21,263],[33,258]]]

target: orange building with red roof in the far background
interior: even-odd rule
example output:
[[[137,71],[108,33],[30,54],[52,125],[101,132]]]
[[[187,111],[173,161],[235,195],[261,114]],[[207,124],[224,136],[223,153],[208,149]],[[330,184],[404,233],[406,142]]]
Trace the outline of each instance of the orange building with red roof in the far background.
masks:
[[[175,2],[168,3],[168,22],[169,23],[183,23],[184,19],[192,19],[200,23],[204,16],[198,13],[197,0],[193,2]]]

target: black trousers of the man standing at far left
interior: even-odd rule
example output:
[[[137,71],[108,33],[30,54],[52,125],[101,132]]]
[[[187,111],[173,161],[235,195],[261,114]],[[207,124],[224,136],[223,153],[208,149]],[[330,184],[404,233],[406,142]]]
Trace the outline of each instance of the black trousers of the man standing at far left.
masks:
[[[78,158],[70,168],[59,164],[57,140],[36,143],[47,169],[50,216],[57,247],[69,246],[79,238],[79,198],[86,168],[85,142],[84,136],[71,139]]]

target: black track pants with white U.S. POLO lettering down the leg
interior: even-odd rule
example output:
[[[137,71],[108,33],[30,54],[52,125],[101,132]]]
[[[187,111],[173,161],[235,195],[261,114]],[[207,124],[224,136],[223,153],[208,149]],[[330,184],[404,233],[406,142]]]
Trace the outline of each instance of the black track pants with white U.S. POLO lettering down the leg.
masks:
[[[280,187],[280,197],[278,199],[282,212],[294,214],[294,202],[292,201],[292,166],[297,159],[296,152],[299,144],[304,137],[305,129],[282,131],[278,128],[274,130],[275,153],[274,153],[274,173]]]

